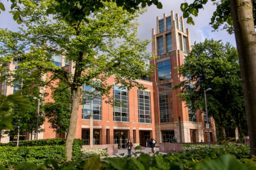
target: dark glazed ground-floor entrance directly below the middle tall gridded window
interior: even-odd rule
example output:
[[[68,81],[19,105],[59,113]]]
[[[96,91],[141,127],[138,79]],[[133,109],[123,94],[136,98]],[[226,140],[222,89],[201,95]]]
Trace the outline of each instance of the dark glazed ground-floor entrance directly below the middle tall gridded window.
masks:
[[[114,130],[114,143],[118,144],[118,148],[126,148],[127,130]]]

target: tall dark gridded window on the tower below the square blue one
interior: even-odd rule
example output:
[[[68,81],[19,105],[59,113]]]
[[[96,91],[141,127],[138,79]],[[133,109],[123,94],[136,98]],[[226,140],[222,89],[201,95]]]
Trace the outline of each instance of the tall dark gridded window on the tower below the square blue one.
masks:
[[[173,122],[171,83],[158,85],[160,123]]]

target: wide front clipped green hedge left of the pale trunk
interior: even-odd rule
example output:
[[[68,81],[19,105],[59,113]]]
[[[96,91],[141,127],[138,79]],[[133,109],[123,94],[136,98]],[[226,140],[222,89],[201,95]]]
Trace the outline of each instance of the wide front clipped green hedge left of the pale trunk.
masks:
[[[64,146],[28,146],[28,147],[0,147],[0,164],[9,162],[28,162],[43,164],[45,160],[56,159],[65,161]]]

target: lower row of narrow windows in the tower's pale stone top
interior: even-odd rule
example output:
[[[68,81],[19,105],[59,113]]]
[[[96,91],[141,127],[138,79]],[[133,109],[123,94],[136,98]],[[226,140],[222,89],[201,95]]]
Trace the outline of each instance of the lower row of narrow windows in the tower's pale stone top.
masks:
[[[182,35],[179,34],[179,45],[181,50],[181,37]],[[183,52],[187,53],[187,43],[186,43],[186,37],[183,37]],[[172,51],[172,34],[169,33],[166,35],[166,46],[167,46],[167,53],[170,53]],[[158,55],[164,54],[164,41],[163,37],[158,37]]]

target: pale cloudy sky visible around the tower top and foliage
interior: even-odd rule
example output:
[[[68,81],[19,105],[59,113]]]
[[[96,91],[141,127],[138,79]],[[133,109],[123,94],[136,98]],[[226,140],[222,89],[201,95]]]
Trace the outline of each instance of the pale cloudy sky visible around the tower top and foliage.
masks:
[[[163,8],[158,9],[155,5],[151,5],[148,7],[147,12],[143,15],[139,16],[139,23],[141,27],[139,27],[139,37],[141,39],[151,39],[152,37],[152,28],[156,29],[156,17],[159,16],[160,19],[163,19],[163,14],[167,14],[167,16],[171,15],[171,11],[174,11],[174,14],[179,14],[179,16],[183,15],[183,12],[180,10],[180,4],[183,1],[179,0],[159,0],[162,2]],[[192,2],[192,0],[188,0]],[[5,5],[6,11],[1,11],[0,14],[0,28],[8,28],[11,31],[18,31],[19,25],[13,20],[13,15],[11,15],[8,11],[10,10],[11,2],[10,1],[2,1],[3,5]],[[195,21],[195,25],[188,25],[187,19],[184,20],[184,27],[189,28],[189,32],[191,35],[191,44],[194,42],[202,42],[205,39],[214,39],[214,40],[222,40],[224,43],[230,42],[233,46],[236,46],[236,40],[234,35],[229,35],[226,31],[218,31],[212,32],[213,28],[209,25],[210,18],[212,18],[212,14],[215,11],[216,6],[213,5],[212,1],[208,1],[207,5],[204,6],[204,10],[199,11],[199,16],[193,16],[193,20]],[[151,44],[148,45],[148,52],[151,52]]]

